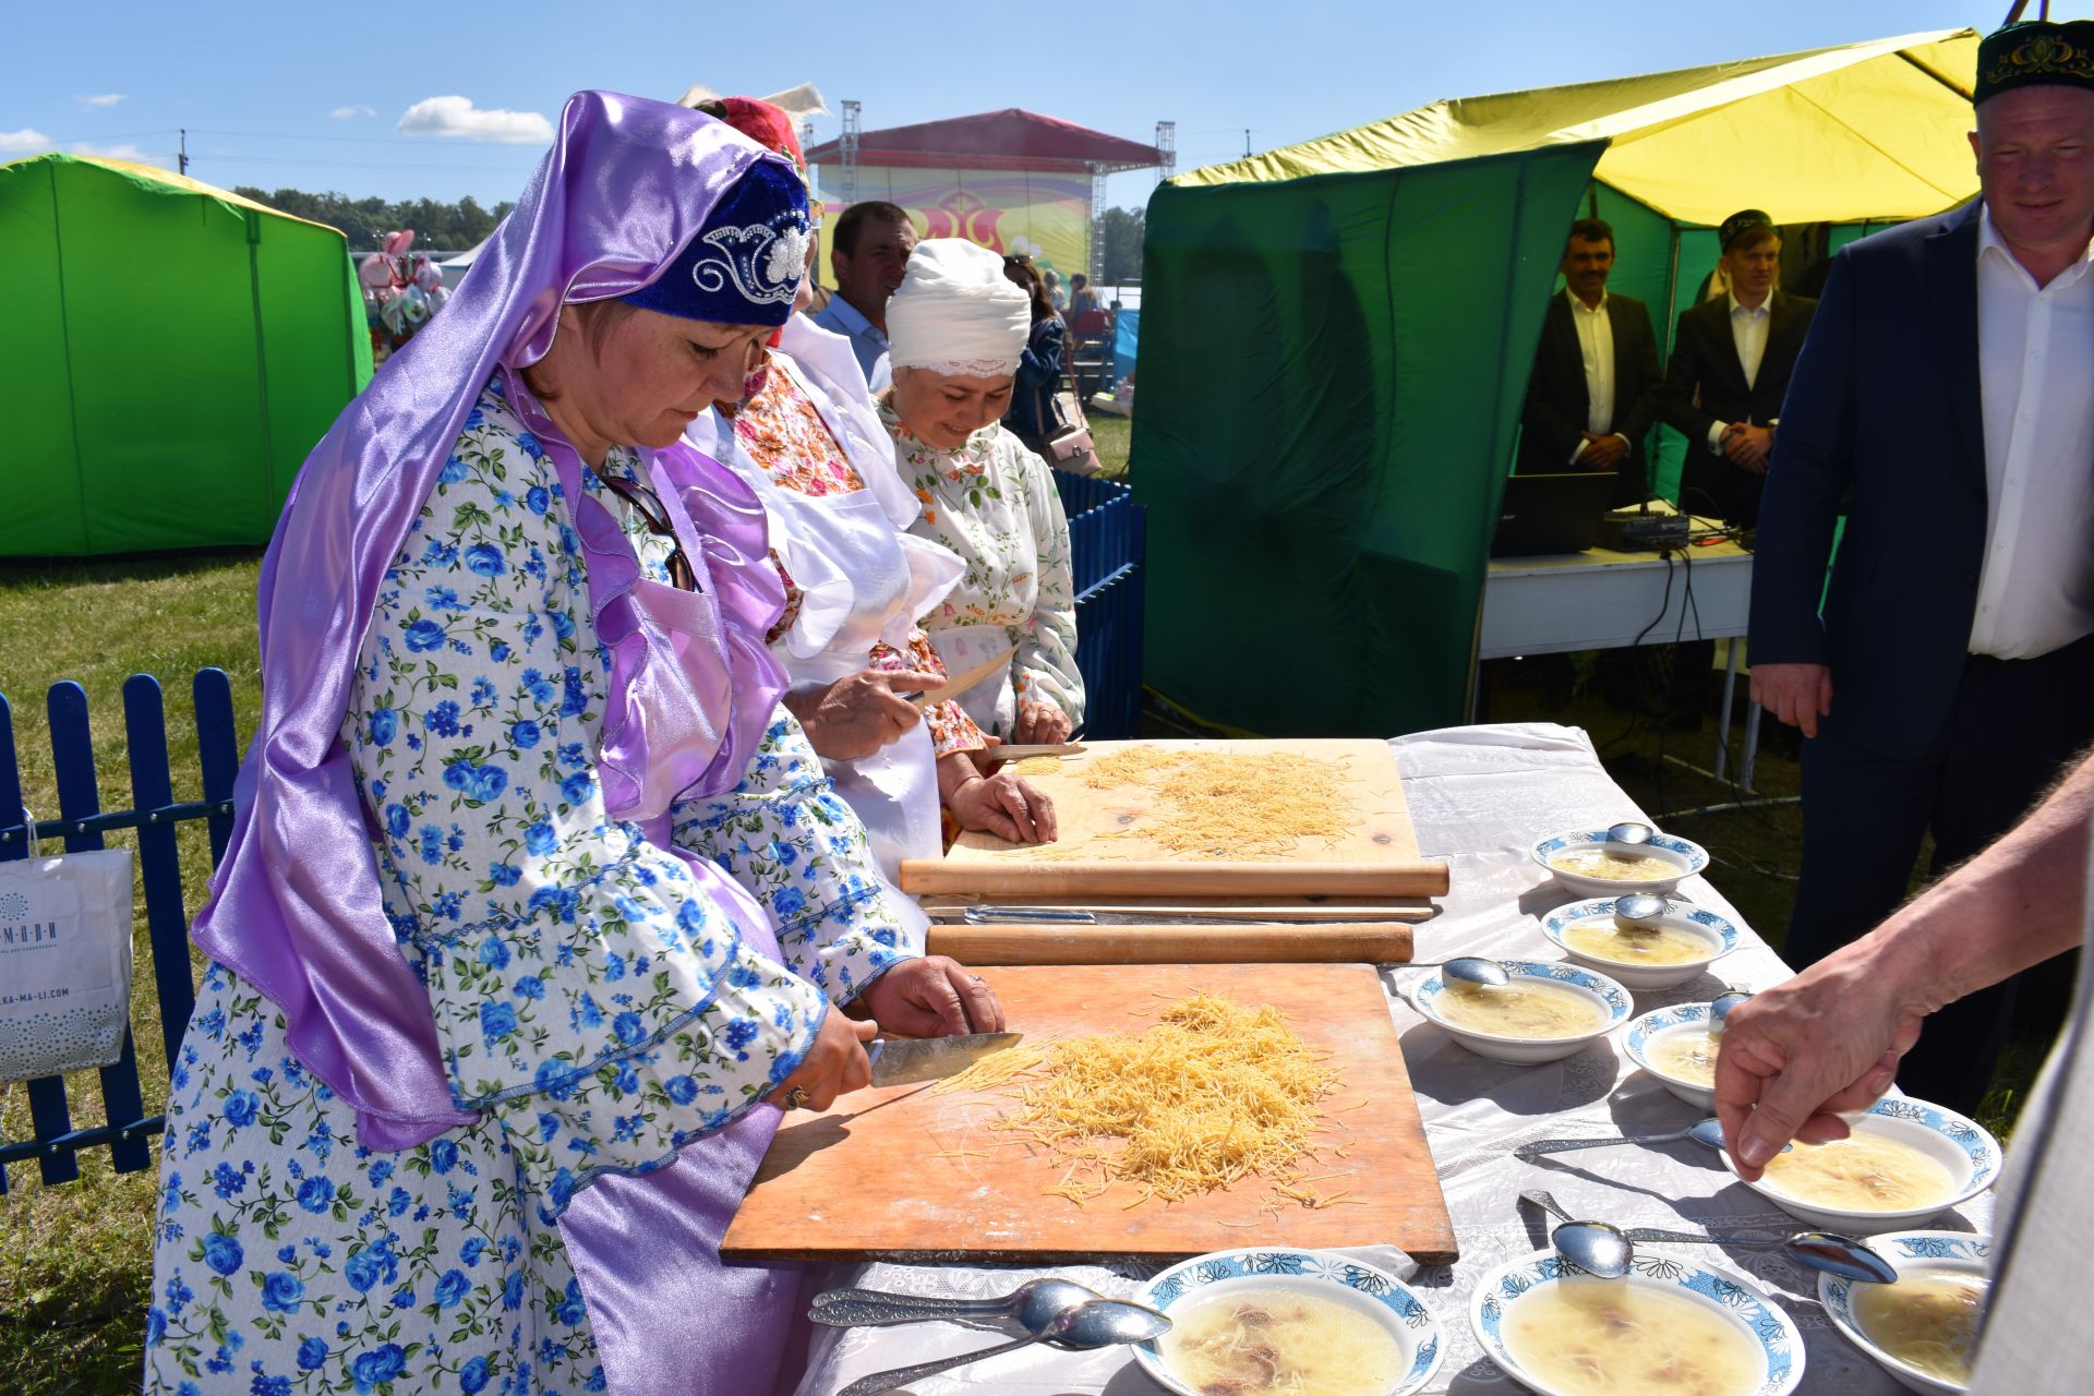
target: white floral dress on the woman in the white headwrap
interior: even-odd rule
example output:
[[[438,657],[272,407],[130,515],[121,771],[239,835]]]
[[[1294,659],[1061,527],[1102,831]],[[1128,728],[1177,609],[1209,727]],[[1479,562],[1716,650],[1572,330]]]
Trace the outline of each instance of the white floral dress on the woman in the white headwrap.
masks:
[[[1081,726],[1076,580],[1047,463],[999,423],[959,450],[938,450],[903,425],[892,400],[879,404],[879,421],[894,437],[896,469],[923,504],[909,532],[967,563],[959,586],[919,620],[946,672],[965,674],[1018,647],[1009,676],[961,695],[961,707],[1003,739],[1020,699],[1053,703]]]

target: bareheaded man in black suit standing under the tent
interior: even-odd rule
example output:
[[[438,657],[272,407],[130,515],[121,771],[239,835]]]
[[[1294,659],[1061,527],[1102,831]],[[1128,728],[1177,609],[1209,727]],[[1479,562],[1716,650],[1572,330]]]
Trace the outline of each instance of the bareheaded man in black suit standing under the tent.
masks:
[[[1598,218],[1570,224],[1564,289],[1541,320],[1535,370],[1520,412],[1520,475],[1619,471],[1614,504],[1646,494],[1644,437],[1658,387],[1658,337],[1650,310],[1610,295],[1614,230]]]

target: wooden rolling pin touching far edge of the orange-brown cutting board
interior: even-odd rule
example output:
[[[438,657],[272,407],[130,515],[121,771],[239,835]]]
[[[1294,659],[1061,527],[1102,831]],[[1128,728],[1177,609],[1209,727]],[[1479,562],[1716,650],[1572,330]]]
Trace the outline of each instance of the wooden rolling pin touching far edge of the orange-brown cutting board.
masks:
[[[961,965],[1401,965],[1411,927],[932,925],[926,954]]]

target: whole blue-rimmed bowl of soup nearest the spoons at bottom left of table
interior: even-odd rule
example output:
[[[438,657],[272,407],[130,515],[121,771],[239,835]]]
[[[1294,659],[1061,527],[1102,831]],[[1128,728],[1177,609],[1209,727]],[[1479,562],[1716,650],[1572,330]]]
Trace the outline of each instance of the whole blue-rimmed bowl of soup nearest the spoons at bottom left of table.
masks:
[[[1403,1396],[1447,1352],[1401,1279],[1332,1252],[1194,1256],[1139,1302],[1166,1312],[1171,1331],[1139,1344],[1135,1360],[1179,1396]]]

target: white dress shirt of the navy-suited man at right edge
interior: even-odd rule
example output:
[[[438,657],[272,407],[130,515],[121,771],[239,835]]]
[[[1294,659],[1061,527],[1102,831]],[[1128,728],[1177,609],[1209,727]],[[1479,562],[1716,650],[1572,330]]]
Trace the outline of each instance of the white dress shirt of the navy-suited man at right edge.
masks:
[[[2094,245],[2037,287],[1977,234],[1985,563],[1970,653],[2033,659],[2094,632]]]

